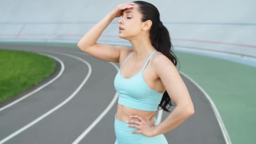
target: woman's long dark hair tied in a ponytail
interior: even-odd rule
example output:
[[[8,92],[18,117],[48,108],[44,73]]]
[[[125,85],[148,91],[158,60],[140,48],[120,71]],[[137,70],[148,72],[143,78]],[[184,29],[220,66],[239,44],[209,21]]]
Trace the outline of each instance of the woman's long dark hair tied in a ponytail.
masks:
[[[152,21],[152,26],[149,31],[151,44],[157,51],[163,53],[168,59],[170,59],[173,64],[177,65],[177,57],[172,52],[173,45],[171,43],[171,37],[169,35],[168,29],[160,21],[160,13],[157,8],[151,3],[144,1],[134,1],[139,5],[139,12],[142,14],[141,21]],[[164,69],[163,69],[164,70]],[[179,71],[179,70],[178,70]],[[167,108],[167,105],[170,105]],[[164,111],[170,112],[168,109],[174,106],[171,104],[171,98],[168,95],[167,91],[163,93],[162,100],[157,108],[161,107]]]

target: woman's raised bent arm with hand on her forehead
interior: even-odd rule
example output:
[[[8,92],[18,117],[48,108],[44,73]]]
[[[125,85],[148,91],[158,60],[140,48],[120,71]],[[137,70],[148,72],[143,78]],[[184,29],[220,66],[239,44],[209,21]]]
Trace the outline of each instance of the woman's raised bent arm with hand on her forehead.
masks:
[[[133,8],[133,3],[117,5],[113,11],[109,12],[103,19],[101,19],[101,21],[99,21],[96,25],[89,29],[88,32],[85,33],[79,43],[77,43],[77,47],[95,58],[104,61],[119,62],[121,51],[130,50],[130,48],[125,46],[112,46],[96,43],[96,41],[99,39],[101,33],[107,28],[110,22],[114,18],[121,16],[123,10],[126,8]]]

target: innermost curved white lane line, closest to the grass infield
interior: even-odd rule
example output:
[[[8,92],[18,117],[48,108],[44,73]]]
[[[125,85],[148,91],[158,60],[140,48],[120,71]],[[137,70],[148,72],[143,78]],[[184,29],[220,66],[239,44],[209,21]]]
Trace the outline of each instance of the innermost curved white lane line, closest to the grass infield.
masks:
[[[41,53],[40,53],[41,54]],[[49,55],[49,54],[43,54],[45,56],[49,56],[53,59],[55,59],[56,61],[58,61],[61,64],[61,70],[59,72],[58,75],[56,75],[56,77],[54,77],[53,79],[51,79],[50,81],[48,81],[47,83],[43,84],[42,86],[40,86],[39,88],[35,89],[34,91],[31,91],[30,93],[27,93],[25,96],[22,96],[19,99],[16,99],[15,101],[11,102],[10,104],[5,105],[4,107],[0,108],[0,112],[4,109],[7,109],[8,107],[13,106],[14,104],[18,103],[19,101],[22,101],[23,99],[26,99],[27,97],[31,96],[32,94],[36,93],[37,91],[40,91],[42,88],[46,87],[47,85],[50,85],[51,83],[53,83],[55,80],[57,80],[63,73],[64,69],[65,69],[65,65],[63,63],[63,61],[61,61],[60,59],[58,59],[55,56]]]

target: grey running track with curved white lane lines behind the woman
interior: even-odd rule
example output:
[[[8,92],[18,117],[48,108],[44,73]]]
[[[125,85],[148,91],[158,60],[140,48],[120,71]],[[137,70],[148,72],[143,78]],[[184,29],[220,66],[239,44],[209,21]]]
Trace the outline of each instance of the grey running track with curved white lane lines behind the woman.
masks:
[[[79,48],[0,48],[51,55],[59,63],[54,81],[30,96],[24,93],[27,97],[16,104],[1,105],[0,144],[114,144],[118,100],[114,77],[118,63],[101,61]],[[192,97],[195,114],[164,134],[169,144],[226,144],[208,99],[195,83],[182,74],[181,77]],[[164,120],[169,113],[159,111],[156,115],[158,120]]]

